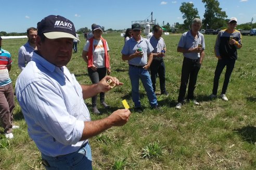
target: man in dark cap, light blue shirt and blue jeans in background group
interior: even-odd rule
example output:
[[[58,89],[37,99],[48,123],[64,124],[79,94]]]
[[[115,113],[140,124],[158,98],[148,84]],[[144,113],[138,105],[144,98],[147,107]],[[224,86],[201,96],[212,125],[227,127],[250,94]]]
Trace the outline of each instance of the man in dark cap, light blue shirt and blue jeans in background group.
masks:
[[[148,72],[153,59],[153,47],[150,42],[140,36],[142,29],[138,23],[132,25],[133,37],[126,41],[121,51],[123,61],[129,63],[129,76],[132,84],[132,98],[135,110],[142,112],[139,100],[139,79],[147,92],[151,108],[158,109],[157,97],[153,91],[152,81]]]

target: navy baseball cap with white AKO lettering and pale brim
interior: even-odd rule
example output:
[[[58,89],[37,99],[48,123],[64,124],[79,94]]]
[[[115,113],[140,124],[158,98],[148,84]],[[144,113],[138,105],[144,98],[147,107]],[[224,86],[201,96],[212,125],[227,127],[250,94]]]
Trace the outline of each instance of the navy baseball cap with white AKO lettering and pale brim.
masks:
[[[37,34],[44,34],[48,39],[72,38],[79,40],[76,38],[73,22],[61,16],[50,15],[42,19],[37,23]]]

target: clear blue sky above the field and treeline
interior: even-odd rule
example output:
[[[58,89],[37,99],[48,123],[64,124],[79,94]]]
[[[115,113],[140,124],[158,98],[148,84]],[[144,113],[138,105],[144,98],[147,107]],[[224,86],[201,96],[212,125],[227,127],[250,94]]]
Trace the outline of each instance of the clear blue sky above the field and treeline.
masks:
[[[26,32],[29,27],[36,27],[36,23],[48,15],[60,15],[71,20],[75,29],[88,27],[97,23],[105,30],[126,30],[132,21],[153,20],[159,25],[169,23],[183,23],[180,6],[183,2],[193,3],[199,16],[203,19],[204,4],[200,0],[158,1],[158,0],[0,0],[1,23],[0,32]],[[255,0],[219,0],[220,8],[226,12],[227,18],[236,17],[238,24],[256,22]]]

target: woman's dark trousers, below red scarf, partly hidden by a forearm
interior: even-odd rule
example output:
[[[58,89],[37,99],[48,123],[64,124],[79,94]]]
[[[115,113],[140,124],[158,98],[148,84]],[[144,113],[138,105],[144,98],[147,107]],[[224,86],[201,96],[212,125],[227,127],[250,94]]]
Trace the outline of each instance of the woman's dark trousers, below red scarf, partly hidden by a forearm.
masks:
[[[92,81],[93,84],[98,83],[101,79],[103,79],[106,76],[107,68],[98,68],[96,71],[92,70],[92,68],[88,68],[88,75]],[[99,93],[99,100],[100,102],[105,101],[105,93],[101,92]],[[97,104],[97,95],[92,97],[92,106],[96,107]]]

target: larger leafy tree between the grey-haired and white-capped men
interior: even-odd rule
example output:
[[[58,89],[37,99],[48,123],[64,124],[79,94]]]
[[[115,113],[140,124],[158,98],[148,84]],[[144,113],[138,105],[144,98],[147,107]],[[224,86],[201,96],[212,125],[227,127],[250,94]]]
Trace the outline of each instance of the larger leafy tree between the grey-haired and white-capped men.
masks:
[[[225,18],[227,17],[226,12],[222,11],[220,8],[220,3],[217,0],[202,0],[205,3],[204,7],[206,11],[204,12],[204,19],[202,20],[203,27],[208,29],[217,29],[225,23]]]

